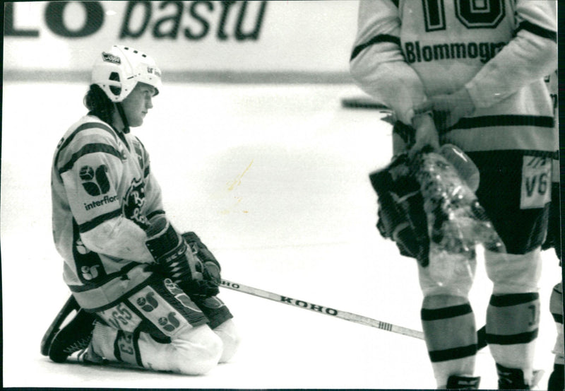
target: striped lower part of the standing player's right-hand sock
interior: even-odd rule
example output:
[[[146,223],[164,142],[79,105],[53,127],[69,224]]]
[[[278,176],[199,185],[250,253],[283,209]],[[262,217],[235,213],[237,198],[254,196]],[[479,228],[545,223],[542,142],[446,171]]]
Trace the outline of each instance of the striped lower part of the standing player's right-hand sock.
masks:
[[[533,356],[539,322],[538,293],[491,296],[487,309],[487,342],[492,357],[497,367],[521,370],[526,384],[533,378]]]

